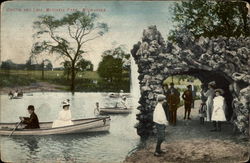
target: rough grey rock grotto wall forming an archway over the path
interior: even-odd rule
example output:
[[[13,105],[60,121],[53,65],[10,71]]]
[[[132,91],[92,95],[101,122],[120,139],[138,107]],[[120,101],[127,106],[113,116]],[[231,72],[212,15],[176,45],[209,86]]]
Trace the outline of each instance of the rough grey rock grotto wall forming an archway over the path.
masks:
[[[190,74],[202,82],[218,74],[228,85],[234,112],[233,123],[248,134],[250,37],[204,38],[195,40],[188,33],[178,36],[178,44],[165,42],[156,26],[143,31],[142,41],[134,45],[132,56],[138,65],[141,98],[137,114],[137,133],[152,134],[152,115],[156,97],[163,93],[162,82],[170,75]],[[215,77],[216,78],[216,77]],[[221,81],[220,79],[218,82]],[[223,83],[221,83],[223,86]]]

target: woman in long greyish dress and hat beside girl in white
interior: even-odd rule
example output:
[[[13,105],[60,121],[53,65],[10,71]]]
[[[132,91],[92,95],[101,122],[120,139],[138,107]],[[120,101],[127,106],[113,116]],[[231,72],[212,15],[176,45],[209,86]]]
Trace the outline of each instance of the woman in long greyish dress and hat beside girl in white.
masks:
[[[214,98],[214,88],[215,82],[208,83],[208,90],[204,94],[207,97],[206,106],[207,106],[207,121],[211,121],[212,109],[213,109],[213,98]]]

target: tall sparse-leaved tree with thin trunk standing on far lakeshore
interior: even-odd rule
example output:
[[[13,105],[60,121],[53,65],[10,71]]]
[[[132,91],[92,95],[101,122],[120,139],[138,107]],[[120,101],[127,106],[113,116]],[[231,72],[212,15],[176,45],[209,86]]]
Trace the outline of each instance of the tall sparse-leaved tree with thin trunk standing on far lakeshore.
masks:
[[[97,14],[74,12],[62,18],[42,15],[34,22],[36,42],[32,55],[57,54],[70,62],[71,91],[75,90],[76,65],[82,60],[84,45],[108,31],[105,23],[97,22]]]

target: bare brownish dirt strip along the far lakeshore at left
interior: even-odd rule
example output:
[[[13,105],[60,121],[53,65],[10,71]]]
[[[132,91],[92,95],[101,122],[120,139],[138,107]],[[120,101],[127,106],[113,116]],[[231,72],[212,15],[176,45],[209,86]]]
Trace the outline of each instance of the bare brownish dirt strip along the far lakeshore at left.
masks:
[[[60,92],[65,89],[65,86],[50,84],[47,82],[37,82],[32,83],[29,86],[18,86],[18,87],[4,87],[0,88],[0,94],[8,94],[10,91],[15,91],[16,89],[22,90],[24,93],[31,93],[31,92]]]

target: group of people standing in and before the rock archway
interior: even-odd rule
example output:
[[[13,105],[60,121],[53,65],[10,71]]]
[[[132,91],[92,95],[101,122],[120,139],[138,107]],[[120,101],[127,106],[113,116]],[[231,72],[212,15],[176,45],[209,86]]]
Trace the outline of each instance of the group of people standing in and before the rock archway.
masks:
[[[202,86],[201,91],[201,108],[199,110],[200,116],[206,118],[207,121],[213,121],[214,129],[211,131],[221,131],[221,122],[226,121],[226,103],[222,96],[222,89],[215,89],[216,83],[210,82],[208,90]],[[187,90],[182,94],[184,100],[185,114],[183,119],[191,120],[191,108],[194,107],[194,93],[192,86],[188,85]],[[157,130],[157,144],[155,149],[155,156],[160,156],[165,153],[161,150],[161,144],[165,139],[165,128],[168,124],[176,125],[177,108],[180,103],[180,93],[174,88],[174,83],[164,86],[164,95],[158,95],[157,105],[153,112],[153,122]]]

